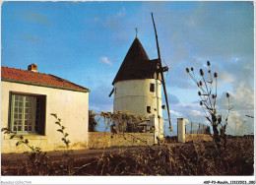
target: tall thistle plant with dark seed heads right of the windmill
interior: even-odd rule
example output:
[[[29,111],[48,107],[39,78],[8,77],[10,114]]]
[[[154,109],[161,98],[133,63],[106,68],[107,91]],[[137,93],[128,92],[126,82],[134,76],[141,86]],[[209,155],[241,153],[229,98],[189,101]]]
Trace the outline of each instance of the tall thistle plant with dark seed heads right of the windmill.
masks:
[[[186,72],[189,74],[191,79],[199,88],[198,95],[201,98],[200,105],[205,113],[205,117],[213,126],[214,141],[216,142],[218,148],[220,149],[221,142],[224,143],[224,148],[226,144],[225,128],[227,125],[228,114],[231,109],[229,104],[229,93],[226,92],[226,98],[228,99],[228,111],[223,123],[223,116],[222,114],[218,113],[216,104],[218,97],[218,74],[212,73],[210,61],[207,61],[207,66],[209,76],[208,79],[206,79],[203,69],[199,70],[201,80],[197,79],[193,67],[191,67],[190,69],[186,68]]]

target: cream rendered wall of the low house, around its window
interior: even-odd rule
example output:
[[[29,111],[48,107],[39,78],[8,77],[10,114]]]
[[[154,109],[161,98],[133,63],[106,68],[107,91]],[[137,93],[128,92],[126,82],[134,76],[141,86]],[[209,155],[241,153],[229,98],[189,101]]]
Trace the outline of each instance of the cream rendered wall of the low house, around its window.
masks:
[[[61,138],[63,137],[58,125],[54,122],[56,119],[51,113],[57,113],[61,118],[62,124],[66,127],[65,132],[69,134],[72,149],[87,147],[88,143],[88,110],[89,110],[89,92],[72,92],[66,90],[37,87],[18,83],[1,82],[1,127],[8,126],[9,98],[10,92],[21,92],[28,94],[46,95],[45,112],[45,135],[24,135],[28,138],[30,144],[40,147],[43,151],[52,151],[61,149],[65,145]],[[1,152],[14,153],[25,152],[28,148],[24,146],[15,146],[18,140],[10,140],[10,136],[2,133]]]

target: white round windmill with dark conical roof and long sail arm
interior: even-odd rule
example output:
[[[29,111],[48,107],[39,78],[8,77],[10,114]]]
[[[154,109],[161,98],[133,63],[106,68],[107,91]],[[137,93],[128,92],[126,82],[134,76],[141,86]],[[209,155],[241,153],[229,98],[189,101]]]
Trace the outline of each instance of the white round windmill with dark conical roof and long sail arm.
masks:
[[[158,36],[157,45],[159,51]],[[150,60],[137,36],[136,29],[136,38],[130,46],[119,71],[112,82],[114,88],[109,94],[109,96],[111,96],[112,93],[114,94],[114,111],[128,110],[129,112],[147,117],[149,121],[144,124],[146,132],[150,132],[150,130],[155,127],[156,138],[163,137],[161,109],[164,108],[165,105],[161,104],[161,87],[163,87],[168,110],[167,96],[162,74],[167,70],[167,67],[161,67],[160,51],[158,59]],[[170,119],[168,120],[170,123]],[[171,125],[169,126],[171,130]]]

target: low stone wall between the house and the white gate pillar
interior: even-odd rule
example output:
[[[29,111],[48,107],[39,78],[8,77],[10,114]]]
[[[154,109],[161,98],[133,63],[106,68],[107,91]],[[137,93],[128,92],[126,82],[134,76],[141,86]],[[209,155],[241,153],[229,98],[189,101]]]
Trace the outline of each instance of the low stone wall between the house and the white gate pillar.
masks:
[[[154,133],[89,132],[89,149],[154,145]]]

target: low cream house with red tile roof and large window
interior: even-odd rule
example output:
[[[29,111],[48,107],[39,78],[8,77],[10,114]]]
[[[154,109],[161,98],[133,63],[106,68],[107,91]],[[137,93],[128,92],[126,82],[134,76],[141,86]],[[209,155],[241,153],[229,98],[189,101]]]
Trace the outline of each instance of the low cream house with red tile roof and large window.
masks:
[[[37,73],[32,64],[28,70],[1,68],[1,128],[17,131],[30,145],[43,151],[65,147],[51,113],[57,113],[69,134],[72,149],[87,147],[89,89],[53,75]],[[1,152],[29,151],[16,147],[17,139],[1,134]]]

